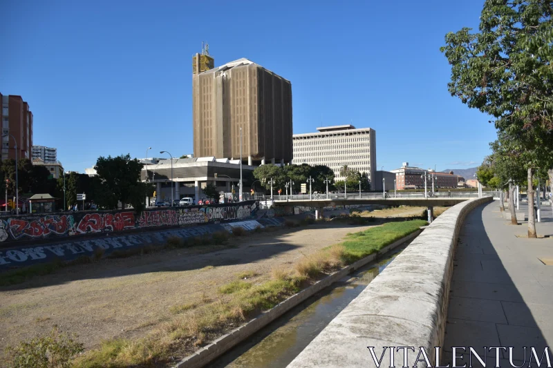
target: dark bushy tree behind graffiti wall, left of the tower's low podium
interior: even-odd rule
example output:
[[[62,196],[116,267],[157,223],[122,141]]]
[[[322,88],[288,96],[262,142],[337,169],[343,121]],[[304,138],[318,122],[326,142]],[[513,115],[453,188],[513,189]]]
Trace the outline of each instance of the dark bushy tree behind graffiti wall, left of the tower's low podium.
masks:
[[[94,166],[100,180],[95,189],[98,204],[116,209],[119,201],[123,208],[129,203],[137,213],[142,212],[147,193],[147,185],[140,182],[142,166],[144,164],[138,159],[131,159],[129,154],[98,157]]]

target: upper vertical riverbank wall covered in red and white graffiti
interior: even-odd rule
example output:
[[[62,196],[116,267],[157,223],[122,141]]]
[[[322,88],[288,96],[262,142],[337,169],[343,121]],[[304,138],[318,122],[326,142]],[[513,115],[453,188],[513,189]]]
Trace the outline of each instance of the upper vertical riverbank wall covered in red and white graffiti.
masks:
[[[185,226],[218,223],[252,217],[256,201],[183,208],[149,209],[140,216],[133,211],[53,213],[0,218],[0,242],[57,238],[145,229],[158,226]]]

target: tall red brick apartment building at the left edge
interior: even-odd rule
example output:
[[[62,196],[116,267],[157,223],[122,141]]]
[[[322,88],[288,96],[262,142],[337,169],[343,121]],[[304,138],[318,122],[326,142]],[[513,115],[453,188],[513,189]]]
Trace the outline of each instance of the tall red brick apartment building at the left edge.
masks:
[[[14,139],[17,143],[18,158],[31,159],[32,113],[29,110],[29,104],[17,95],[2,95],[0,93],[0,99],[2,100],[1,159],[15,159]],[[4,137],[4,135],[8,136]]]

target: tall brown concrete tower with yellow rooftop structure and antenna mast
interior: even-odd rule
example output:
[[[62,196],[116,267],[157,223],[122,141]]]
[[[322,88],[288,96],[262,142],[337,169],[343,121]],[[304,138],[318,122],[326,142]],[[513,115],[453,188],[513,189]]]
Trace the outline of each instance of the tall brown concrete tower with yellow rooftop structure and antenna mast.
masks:
[[[194,157],[247,164],[292,162],[292,85],[248,59],[213,67],[207,50],[193,57]]]

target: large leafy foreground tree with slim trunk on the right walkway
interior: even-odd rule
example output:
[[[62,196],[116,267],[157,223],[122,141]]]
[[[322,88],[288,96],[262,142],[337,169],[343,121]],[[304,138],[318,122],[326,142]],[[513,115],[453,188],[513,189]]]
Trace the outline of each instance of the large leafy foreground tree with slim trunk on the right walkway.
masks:
[[[446,35],[452,96],[491,115],[527,171],[528,202],[538,167],[553,166],[553,2],[486,0],[479,32]],[[536,238],[528,206],[528,237]]]

